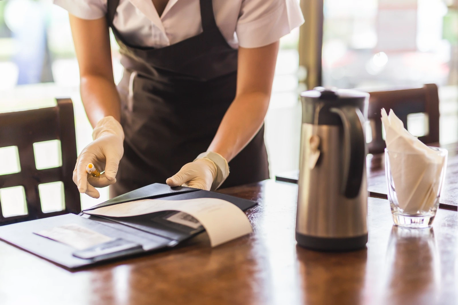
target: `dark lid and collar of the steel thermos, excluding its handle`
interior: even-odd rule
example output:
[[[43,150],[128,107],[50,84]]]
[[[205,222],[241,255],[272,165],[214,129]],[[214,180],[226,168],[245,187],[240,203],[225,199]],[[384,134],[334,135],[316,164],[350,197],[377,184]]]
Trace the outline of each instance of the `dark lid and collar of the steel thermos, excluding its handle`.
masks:
[[[316,87],[300,93],[302,101],[302,122],[317,125],[342,125],[332,108],[354,106],[367,118],[369,93],[351,89],[326,89]],[[318,114],[318,115],[317,115]]]

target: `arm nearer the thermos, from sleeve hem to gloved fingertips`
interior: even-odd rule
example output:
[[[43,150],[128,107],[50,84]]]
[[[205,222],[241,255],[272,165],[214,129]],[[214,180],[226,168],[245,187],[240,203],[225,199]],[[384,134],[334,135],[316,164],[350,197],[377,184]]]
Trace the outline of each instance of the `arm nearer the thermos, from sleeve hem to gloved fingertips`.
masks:
[[[237,93],[207,149],[213,155],[199,155],[185,164],[167,179],[168,185],[214,190],[227,178],[228,162],[251,141],[264,122],[278,45],[277,41],[260,48],[239,48]]]

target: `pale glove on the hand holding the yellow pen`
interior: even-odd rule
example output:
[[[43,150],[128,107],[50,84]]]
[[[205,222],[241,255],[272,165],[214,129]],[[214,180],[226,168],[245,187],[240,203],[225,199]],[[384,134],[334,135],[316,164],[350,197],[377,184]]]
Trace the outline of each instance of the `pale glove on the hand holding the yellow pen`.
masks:
[[[76,159],[73,182],[80,193],[98,198],[95,187],[105,187],[116,182],[119,161],[124,154],[124,131],[121,124],[112,116],[100,120],[92,133],[93,142],[89,143]],[[105,171],[100,177],[87,174],[88,163],[93,163],[98,171]]]

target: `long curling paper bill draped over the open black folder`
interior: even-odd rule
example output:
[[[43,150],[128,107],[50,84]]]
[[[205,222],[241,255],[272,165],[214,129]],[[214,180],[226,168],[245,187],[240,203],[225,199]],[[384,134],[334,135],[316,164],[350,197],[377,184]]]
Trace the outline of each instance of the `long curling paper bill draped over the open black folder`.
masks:
[[[196,218],[207,230],[212,247],[253,231],[245,212],[230,202],[216,198],[144,199],[83,212],[107,217],[130,217],[160,211],[185,212]]]

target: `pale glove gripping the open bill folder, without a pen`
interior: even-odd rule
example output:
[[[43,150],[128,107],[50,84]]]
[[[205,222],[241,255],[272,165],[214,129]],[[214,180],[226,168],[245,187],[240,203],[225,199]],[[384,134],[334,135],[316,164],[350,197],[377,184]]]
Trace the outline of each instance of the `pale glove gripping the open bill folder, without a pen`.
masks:
[[[203,152],[190,163],[186,163],[178,173],[167,179],[171,186],[189,186],[214,191],[229,175],[226,159],[216,152]]]

